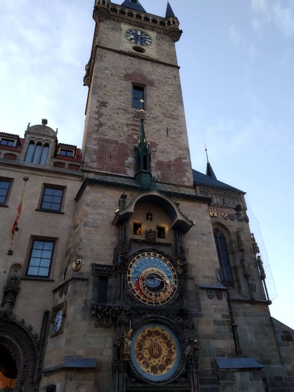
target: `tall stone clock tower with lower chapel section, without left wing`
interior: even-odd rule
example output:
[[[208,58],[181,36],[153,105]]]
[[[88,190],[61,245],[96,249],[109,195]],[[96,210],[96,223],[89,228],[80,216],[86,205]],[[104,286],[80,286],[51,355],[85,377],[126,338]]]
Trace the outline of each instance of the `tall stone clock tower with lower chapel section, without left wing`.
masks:
[[[268,331],[280,364],[265,274],[244,193],[210,164],[206,175],[192,170],[178,19],[169,3],[163,18],[138,0],[96,0],[93,18],[82,185],[54,282],[42,391],[220,392],[228,380],[266,391],[248,340]]]

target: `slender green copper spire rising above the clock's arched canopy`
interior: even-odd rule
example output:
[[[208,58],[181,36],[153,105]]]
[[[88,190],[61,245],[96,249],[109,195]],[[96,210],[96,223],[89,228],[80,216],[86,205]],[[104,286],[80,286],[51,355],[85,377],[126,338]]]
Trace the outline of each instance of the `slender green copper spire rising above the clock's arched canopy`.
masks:
[[[137,182],[144,188],[151,185],[151,155],[149,144],[146,142],[144,129],[144,119],[141,119],[140,138],[136,149],[136,170],[135,177]]]

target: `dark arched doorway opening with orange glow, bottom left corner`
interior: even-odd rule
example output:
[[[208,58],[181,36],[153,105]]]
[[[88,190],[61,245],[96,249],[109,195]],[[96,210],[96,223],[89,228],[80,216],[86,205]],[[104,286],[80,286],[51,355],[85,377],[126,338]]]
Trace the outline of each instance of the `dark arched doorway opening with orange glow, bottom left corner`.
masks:
[[[0,392],[13,392],[16,378],[16,362],[7,348],[0,346]]]

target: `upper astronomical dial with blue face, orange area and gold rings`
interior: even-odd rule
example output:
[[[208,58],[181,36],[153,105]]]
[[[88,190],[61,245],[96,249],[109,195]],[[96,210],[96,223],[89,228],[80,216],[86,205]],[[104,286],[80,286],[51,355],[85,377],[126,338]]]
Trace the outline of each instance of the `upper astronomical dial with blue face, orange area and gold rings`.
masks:
[[[155,252],[141,253],[131,261],[127,282],[135,297],[148,305],[169,302],[177,289],[177,276],[172,263]]]

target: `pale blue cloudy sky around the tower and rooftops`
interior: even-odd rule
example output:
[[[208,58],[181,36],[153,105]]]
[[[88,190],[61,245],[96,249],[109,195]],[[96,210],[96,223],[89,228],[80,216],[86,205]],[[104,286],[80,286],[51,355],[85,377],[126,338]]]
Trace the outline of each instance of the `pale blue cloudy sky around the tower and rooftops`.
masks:
[[[123,0],[121,1],[123,2]],[[165,16],[166,0],[142,0]],[[273,317],[294,328],[294,1],[170,0],[192,166],[246,192]],[[0,1],[0,131],[81,147],[94,0]],[[270,272],[271,270],[271,272]],[[273,276],[273,279],[272,279]]]

